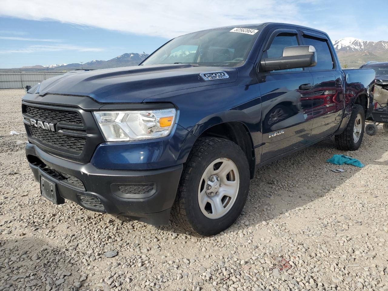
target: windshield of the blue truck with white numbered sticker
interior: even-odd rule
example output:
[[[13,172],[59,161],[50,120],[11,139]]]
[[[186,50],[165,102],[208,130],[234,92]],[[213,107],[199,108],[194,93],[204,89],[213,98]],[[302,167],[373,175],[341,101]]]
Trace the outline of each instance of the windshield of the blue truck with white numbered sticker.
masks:
[[[237,67],[246,61],[259,30],[260,26],[218,28],[178,36],[154,52],[142,65],[183,63]]]

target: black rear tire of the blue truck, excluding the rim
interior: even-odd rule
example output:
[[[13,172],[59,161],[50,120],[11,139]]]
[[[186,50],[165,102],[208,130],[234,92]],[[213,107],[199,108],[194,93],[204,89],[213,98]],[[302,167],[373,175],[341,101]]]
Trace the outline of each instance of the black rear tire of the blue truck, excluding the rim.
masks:
[[[353,128],[354,123],[358,114],[361,114],[362,127],[361,133],[358,142],[353,140]],[[340,135],[335,135],[335,144],[337,149],[343,151],[355,151],[357,150],[362,142],[362,137],[364,137],[364,128],[365,128],[365,112],[364,107],[359,104],[354,104],[352,109],[352,114],[350,115],[350,120],[345,130]]]

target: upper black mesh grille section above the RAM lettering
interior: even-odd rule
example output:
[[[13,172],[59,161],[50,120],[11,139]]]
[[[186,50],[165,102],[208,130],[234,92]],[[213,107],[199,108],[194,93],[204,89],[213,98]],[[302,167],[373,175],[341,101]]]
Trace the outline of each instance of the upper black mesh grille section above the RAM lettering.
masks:
[[[65,122],[80,125],[82,124],[80,114],[74,111],[47,109],[28,105],[25,107],[24,110],[25,113],[39,120],[51,122]]]

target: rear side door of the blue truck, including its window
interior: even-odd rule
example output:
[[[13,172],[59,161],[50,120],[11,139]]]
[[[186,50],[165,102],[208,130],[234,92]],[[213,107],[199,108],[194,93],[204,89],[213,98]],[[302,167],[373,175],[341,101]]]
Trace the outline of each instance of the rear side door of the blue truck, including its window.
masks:
[[[344,76],[337,68],[332,46],[326,35],[302,31],[304,45],[317,51],[317,65],[309,68],[314,80],[312,91],[312,139],[317,140],[334,133],[340,126],[344,109]]]

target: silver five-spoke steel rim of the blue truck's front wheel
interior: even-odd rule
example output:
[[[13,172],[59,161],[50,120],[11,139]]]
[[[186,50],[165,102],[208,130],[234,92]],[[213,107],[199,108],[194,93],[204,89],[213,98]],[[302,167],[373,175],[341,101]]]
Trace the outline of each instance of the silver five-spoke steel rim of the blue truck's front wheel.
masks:
[[[240,176],[236,164],[218,158],[204,171],[198,187],[198,203],[203,215],[217,219],[233,206],[239,192]]]

